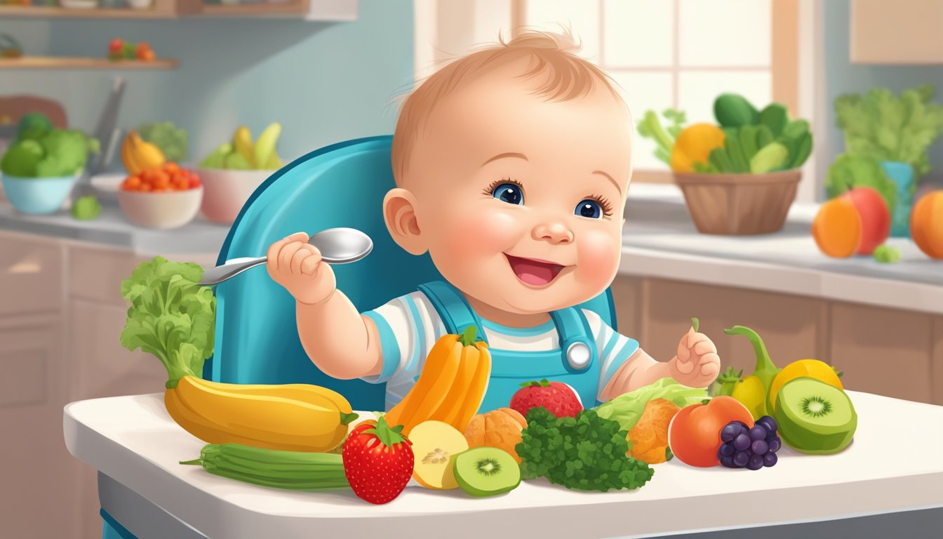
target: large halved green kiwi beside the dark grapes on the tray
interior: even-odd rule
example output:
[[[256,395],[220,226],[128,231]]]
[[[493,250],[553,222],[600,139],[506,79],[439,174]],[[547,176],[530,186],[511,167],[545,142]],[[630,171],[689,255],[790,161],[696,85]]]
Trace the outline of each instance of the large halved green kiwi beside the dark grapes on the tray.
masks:
[[[783,442],[803,453],[835,453],[852,442],[858,426],[852,399],[819,379],[802,377],[776,394],[776,421]]]

